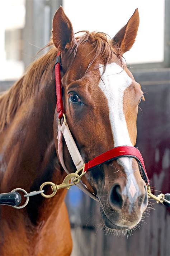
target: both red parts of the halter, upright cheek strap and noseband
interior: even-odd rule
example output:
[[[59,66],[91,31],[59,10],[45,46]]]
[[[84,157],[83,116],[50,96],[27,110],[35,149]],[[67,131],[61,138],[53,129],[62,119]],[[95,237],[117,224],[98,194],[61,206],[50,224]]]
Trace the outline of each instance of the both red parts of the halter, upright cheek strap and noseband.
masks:
[[[60,75],[60,52],[57,54],[55,63],[55,77],[56,77],[56,93],[57,93],[57,112],[58,118],[61,119],[64,114],[63,101],[62,101],[62,90],[61,90],[61,75]],[[99,156],[93,158],[88,163],[85,163],[83,172],[88,172],[96,167],[104,165],[104,163],[116,160],[120,157],[132,157],[137,160],[140,164],[140,171],[142,179],[149,184],[149,179],[146,173],[145,165],[143,162],[140,151],[131,146],[120,146],[115,147]]]

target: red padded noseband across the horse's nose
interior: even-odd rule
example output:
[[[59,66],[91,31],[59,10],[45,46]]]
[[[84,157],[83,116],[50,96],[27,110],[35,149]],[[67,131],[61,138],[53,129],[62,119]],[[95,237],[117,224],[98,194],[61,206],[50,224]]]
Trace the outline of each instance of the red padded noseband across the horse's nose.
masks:
[[[130,146],[116,147],[116,148],[110,149],[107,152],[104,152],[103,154],[93,158],[88,163],[86,163],[84,167],[84,171],[88,172],[94,169],[95,167],[101,166],[104,163],[107,163],[109,161],[116,160],[119,157],[136,158],[136,160],[139,161],[142,169],[142,175],[143,175],[142,178],[149,184],[149,179],[146,174],[145,164],[143,162],[142,155],[137,148],[130,147]]]

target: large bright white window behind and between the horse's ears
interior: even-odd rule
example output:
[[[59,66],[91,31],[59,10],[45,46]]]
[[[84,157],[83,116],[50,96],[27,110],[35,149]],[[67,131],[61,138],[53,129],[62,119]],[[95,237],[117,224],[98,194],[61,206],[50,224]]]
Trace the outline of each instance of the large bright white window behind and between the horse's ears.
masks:
[[[131,51],[124,54],[128,63],[164,61],[165,0],[63,0],[64,10],[74,31],[102,31],[113,37],[138,8],[140,27]]]

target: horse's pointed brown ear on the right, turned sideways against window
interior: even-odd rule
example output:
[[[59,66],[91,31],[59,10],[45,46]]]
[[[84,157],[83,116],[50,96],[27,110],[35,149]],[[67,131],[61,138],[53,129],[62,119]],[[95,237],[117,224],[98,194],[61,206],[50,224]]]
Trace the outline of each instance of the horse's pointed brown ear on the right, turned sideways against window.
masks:
[[[129,19],[128,23],[119,30],[119,32],[113,37],[113,43],[116,42],[121,48],[122,53],[130,50],[136,39],[139,26],[139,13],[136,9]]]

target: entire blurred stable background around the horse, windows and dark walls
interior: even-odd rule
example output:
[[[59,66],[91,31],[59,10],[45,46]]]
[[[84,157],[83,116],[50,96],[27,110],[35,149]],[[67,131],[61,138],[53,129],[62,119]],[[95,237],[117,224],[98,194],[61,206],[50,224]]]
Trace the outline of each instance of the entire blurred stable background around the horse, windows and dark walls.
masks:
[[[18,80],[38,50],[48,43],[52,18],[60,5],[74,32],[98,30],[110,37],[138,8],[136,42],[124,54],[146,99],[138,113],[137,147],[151,187],[169,193],[170,0],[1,0],[0,91]],[[74,244],[72,256],[170,256],[170,211],[163,205],[149,206],[141,228],[128,238],[117,238],[100,230],[98,204],[79,189],[69,190],[66,203]]]

